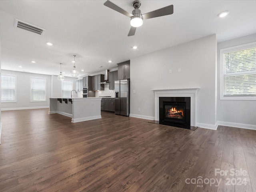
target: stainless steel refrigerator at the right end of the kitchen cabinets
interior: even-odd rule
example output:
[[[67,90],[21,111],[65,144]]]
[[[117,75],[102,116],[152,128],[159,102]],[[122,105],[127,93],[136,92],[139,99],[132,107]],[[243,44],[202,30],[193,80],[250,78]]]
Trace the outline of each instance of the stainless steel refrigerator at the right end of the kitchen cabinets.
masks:
[[[115,81],[115,114],[130,114],[130,79]]]

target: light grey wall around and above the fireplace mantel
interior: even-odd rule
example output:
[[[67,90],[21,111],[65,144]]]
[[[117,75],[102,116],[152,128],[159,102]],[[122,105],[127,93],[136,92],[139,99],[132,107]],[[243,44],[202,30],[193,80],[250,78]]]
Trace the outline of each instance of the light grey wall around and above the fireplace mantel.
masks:
[[[215,71],[216,35],[131,59],[130,116],[154,119],[152,89],[199,87],[197,126],[216,128]]]

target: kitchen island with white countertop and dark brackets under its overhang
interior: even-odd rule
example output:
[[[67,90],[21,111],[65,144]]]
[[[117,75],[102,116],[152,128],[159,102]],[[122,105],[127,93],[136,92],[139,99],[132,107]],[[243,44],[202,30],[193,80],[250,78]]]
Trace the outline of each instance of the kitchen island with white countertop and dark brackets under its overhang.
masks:
[[[100,119],[101,98],[50,98],[49,114],[58,113],[71,117],[71,122]]]

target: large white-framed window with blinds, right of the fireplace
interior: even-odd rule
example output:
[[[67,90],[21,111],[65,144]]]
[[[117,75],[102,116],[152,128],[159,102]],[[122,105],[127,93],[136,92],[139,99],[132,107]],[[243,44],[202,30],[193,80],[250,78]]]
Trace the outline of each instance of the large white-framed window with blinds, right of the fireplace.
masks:
[[[256,100],[256,43],[220,50],[220,99]]]

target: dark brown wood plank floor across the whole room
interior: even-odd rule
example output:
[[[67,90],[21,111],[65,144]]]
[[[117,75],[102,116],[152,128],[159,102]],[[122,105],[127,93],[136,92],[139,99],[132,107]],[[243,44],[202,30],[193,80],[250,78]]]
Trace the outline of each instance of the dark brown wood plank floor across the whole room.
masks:
[[[0,192],[256,192],[255,130],[192,131],[111,112],[70,121],[2,111]]]

